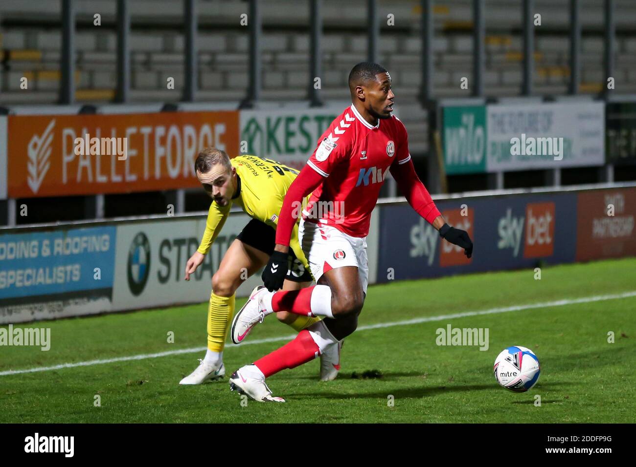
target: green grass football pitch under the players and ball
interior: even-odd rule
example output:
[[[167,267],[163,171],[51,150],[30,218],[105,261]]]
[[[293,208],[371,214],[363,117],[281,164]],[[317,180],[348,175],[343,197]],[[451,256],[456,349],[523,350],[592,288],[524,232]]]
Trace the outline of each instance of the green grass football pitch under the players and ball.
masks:
[[[369,288],[359,326],[635,290],[634,258],[544,267],[541,280],[527,269],[401,281]],[[51,328],[51,349],[0,347],[0,372],[204,348],[206,313],[198,304],[28,323]],[[488,328],[487,351],[438,346],[436,329],[449,323]],[[249,341],[293,333],[270,316]],[[242,404],[227,376],[284,342],[227,346],[226,378],[202,386],[178,382],[204,351],[0,376],[0,422],[633,423],[636,413],[633,295],[359,329],[345,340],[335,381],[318,382],[314,361],[268,379],[287,403]],[[527,393],[499,387],[492,373],[495,356],[512,345],[532,349],[541,363]],[[381,377],[360,377],[369,370]]]

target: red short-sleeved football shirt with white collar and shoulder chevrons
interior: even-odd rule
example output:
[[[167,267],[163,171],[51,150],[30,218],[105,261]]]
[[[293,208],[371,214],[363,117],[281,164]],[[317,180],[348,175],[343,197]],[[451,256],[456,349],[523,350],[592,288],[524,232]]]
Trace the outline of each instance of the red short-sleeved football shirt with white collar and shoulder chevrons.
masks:
[[[347,107],[322,133],[307,161],[325,180],[312,193],[303,219],[365,237],[389,168],[411,159],[407,141],[396,116],[373,126],[353,104]]]

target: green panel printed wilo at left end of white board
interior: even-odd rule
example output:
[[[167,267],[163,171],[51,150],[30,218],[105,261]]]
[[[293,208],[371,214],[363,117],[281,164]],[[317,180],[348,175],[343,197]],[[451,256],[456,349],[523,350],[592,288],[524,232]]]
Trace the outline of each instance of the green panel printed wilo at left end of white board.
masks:
[[[445,107],[446,173],[486,172],[486,107]]]

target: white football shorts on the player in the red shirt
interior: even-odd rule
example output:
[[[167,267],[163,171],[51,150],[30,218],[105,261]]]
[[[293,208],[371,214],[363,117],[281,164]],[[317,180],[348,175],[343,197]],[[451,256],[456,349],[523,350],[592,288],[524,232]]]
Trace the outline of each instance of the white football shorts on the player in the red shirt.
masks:
[[[363,292],[369,285],[366,237],[352,237],[336,227],[300,220],[298,241],[309,262],[316,283],[329,269],[356,266]]]

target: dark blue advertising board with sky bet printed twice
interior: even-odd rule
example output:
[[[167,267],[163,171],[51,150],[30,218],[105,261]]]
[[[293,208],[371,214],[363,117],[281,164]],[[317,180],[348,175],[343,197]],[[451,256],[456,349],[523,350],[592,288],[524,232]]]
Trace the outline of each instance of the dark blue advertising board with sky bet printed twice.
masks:
[[[557,264],[576,255],[577,195],[464,198],[437,203],[449,225],[466,230],[473,257],[443,240],[411,206],[380,210],[378,282]],[[387,272],[388,271],[388,272]]]

